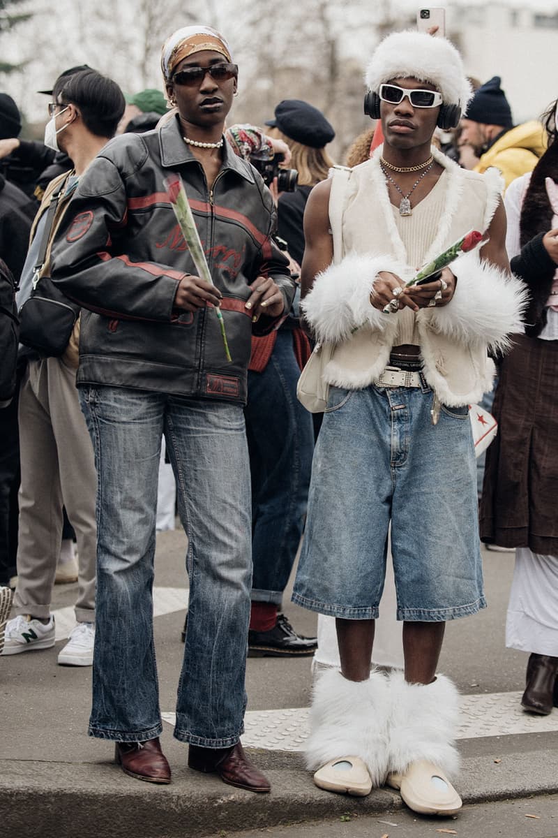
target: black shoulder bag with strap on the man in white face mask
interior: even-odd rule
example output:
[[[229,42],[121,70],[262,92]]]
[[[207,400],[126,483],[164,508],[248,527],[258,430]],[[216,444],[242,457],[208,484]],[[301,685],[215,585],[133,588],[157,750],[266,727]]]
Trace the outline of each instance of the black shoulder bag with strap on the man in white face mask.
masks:
[[[54,225],[54,215],[59,197],[66,185],[64,181],[54,191],[47,210],[43,238],[33,268],[33,289],[30,297],[19,309],[19,340],[42,355],[58,356],[64,353],[79,317],[79,305],[72,303],[50,277],[42,277],[44,258]]]

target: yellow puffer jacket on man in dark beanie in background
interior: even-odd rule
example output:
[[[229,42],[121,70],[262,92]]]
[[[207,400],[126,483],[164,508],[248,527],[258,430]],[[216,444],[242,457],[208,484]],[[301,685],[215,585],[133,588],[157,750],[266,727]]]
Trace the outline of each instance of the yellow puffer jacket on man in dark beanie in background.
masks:
[[[510,128],[499,137],[480,158],[474,171],[483,173],[491,166],[499,168],[507,189],[512,180],[532,172],[545,151],[545,131],[540,122],[531,120]]]

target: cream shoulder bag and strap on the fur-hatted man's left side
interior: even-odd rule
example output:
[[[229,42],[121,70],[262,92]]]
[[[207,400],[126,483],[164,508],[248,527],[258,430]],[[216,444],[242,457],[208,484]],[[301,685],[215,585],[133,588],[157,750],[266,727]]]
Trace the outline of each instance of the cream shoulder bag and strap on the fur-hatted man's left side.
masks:
[[[333,235],[333,261],[336,264],[343,258],[342,219],[345,209],[346,187],[351,177],[351,169],[346,166],[334,166],[331,176],[330,191],[330,227]],[[324,380],[325,366],[329,364],[335,344],[315,344],[314,351],[300,373],[296,385],[296,397],[310,413],[323,413],[327,407],[330,385]]]

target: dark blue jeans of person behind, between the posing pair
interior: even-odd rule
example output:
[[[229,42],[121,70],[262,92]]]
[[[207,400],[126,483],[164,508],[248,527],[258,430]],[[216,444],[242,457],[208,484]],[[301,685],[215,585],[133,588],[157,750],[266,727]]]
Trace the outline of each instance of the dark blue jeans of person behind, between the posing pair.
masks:
[[[252,600],[281,604],[305,525],[314,430],[296,397],[293,333],[281,329],[263,372],[248,371],[252,474]]]

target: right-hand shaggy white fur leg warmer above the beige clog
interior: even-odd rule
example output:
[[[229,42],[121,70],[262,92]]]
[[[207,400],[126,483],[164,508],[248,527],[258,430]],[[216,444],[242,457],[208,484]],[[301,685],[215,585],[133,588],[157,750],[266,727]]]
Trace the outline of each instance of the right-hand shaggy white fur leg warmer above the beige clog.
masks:
[[[454,745],[458,721],[458,691],[453,682],[438,675],[432,684],[408,684],[403,673],[390,675],[389,770],[404,773],[409,765],[425,759],[455,775],[459,755]]]

